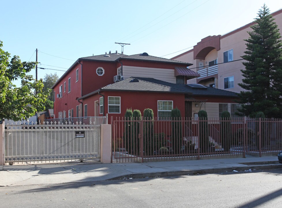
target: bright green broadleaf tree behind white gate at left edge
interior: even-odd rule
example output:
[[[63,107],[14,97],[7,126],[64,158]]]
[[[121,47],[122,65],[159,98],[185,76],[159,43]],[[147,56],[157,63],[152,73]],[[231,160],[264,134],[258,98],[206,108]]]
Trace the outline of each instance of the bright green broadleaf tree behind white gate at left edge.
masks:
[[[36,81],[32,75],[27,75],[36,62],[21,62],[18,56],[9,62],[10,53],[2,47],[0,41],[0,119],[27,120],[44,110],[49,91],[43,92],[42,80]],[[21,81],[20,87],[13,84],[15,80]]]

